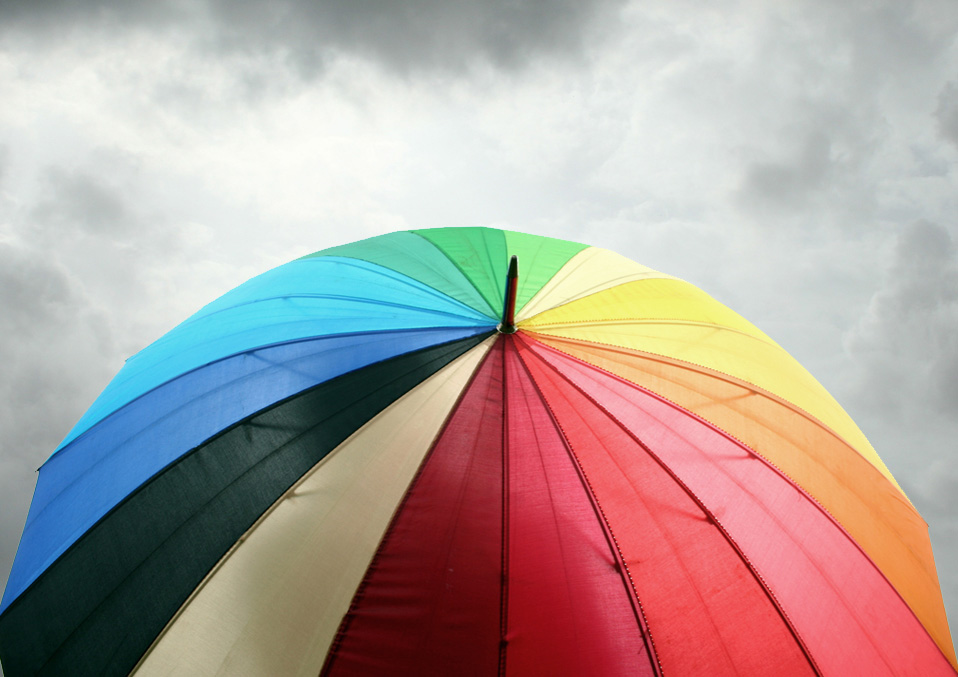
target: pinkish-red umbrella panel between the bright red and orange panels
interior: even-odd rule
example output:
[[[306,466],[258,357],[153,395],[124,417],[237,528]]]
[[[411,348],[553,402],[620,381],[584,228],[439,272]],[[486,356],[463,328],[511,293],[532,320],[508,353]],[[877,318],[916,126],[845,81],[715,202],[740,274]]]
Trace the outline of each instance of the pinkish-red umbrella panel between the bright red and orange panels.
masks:
[[[873,563],[787,478],[687,411],[558,351],[531,342],[527,345],[634,431],[702,501],[766,582],[824,674],[954,674]],[[538,360],[531,361],[539,365],[539,380],[549,383],[545,386],[548,392],[557,387],[571,389],[568,381],[545,373],[550,370],[543,369]],[[552,399],[550,396],[550,402]],[[583,399],[570,396],[566,401],[582,411],[586,406]],[[597,407],[593,405],[591,411],[598,411]],[[587,416],[593,417],[594,426],[601,425],[602,418],[609,420],[601,413]],[[614,444],[611,438],[606,443],[609,449]],[[633,443],[632,448],[635,446]],[[591,468],[591,462],[583,463]],[[598,467],[597,472],[605,472]],[[618,522],[611,517],[610,521],[617,529]],[[640,586],[645,602],[644,589]],[[756,604],[761,601],[753,597]],[[749,641],[764,634],[762,624],[740,616],[734,606],[712,613],[721,628],[733,629]],[[658,642],[657,624],[650,621],[650,626]],[[768,641],[760,642],[760,651],[766,655],[772,646]]]

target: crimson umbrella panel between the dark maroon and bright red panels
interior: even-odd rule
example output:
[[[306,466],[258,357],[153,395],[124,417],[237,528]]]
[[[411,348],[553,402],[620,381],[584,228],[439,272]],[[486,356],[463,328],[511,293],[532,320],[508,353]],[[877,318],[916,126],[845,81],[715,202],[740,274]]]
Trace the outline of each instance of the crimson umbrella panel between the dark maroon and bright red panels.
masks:
[[[508,339],[505,674],[652,675],[603,521]]]

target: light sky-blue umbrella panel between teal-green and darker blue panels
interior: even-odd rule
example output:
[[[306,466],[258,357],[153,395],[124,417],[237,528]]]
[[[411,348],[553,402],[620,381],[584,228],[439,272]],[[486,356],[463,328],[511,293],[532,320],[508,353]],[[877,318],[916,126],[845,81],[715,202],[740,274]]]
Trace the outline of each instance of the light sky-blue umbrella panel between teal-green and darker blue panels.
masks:
[[[60,449],[127,402],[192,369],[318,336],[495,321],[412,278],[339,257],[300,259],[254,277],[127,360]]]

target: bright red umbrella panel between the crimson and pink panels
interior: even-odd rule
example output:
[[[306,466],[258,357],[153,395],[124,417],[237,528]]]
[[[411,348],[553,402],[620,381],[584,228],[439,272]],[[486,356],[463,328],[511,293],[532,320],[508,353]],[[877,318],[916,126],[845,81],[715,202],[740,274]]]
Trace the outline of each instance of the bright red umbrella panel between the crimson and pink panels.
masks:
[[[699,503],[529,345],[521,340],[520,354],[608,519],[664,674],[814,674],[767,592]]]

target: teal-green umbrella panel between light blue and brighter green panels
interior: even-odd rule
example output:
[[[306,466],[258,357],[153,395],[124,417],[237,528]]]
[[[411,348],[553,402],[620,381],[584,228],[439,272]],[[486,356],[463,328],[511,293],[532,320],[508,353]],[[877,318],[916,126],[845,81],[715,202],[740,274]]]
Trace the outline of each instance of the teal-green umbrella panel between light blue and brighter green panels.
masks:
[[[408,231],[331,247],[303,258],[316,256],[342,256],[375,263],[427,284],[494,319],[501,312],[501,299],[498,305],[489,305],[445,254],[429,240]]]

